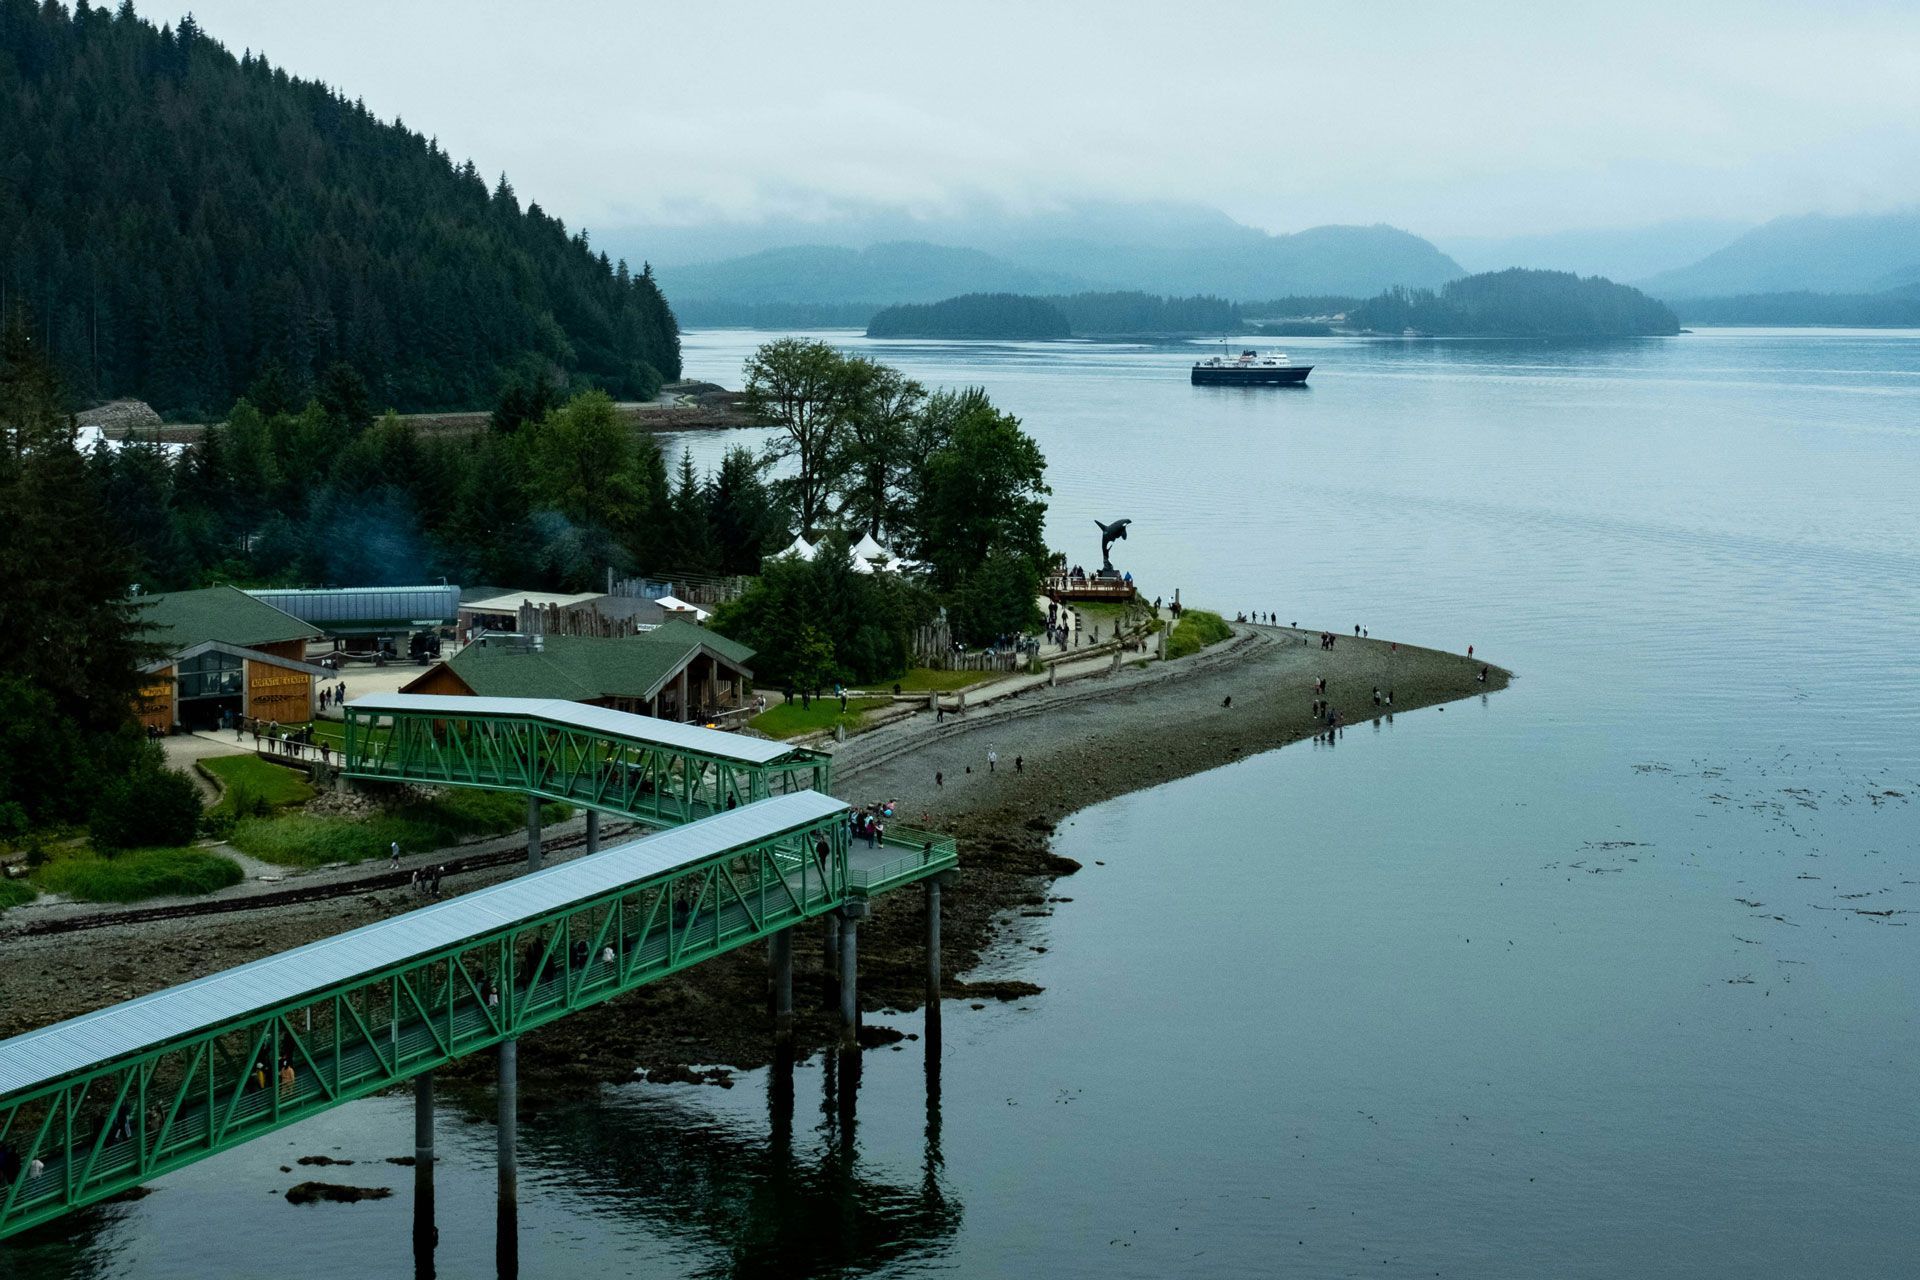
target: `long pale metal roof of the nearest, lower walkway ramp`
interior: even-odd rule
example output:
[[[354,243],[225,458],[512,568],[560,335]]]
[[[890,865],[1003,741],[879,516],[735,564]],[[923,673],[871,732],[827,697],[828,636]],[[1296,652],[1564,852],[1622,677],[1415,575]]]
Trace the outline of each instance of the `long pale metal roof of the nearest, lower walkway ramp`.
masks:
[[[317,996],[689,862],[785,835],[845,808],[843,800],[818,791],[756,800],[685,827],[0,1040],[0,1096]]]

